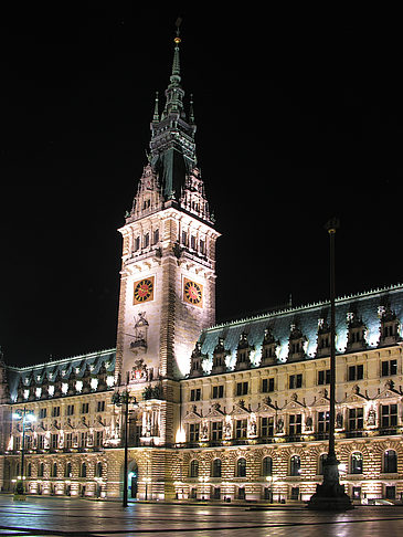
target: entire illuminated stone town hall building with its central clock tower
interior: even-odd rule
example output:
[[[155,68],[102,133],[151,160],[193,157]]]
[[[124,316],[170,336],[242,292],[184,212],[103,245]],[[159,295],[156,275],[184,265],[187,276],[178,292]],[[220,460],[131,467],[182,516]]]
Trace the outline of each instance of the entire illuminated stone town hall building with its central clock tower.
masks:
[[[215,241],[176,40],[123,235],[116,349],[0,364],[0,480],[31,494],[308,499],[327,452],[328,303],[214,326]],[[336,450],[354,498],[403,494],[403,286],[336,303]],[[35,421],[13,419],[31,413]],[[22,439],[24,468],[21,472]]]

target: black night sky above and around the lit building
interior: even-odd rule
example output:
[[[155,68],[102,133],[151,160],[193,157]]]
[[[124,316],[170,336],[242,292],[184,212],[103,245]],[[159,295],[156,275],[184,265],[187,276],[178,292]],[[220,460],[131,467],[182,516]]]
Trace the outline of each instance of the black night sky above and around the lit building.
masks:
[[[9,364],[115,345],[117,229],[146,164],[178,14],[182,85],[194,95],[197,152],[222,233],[218,320],[290,294],[294,304],[326,299],[324,224],[333,215],[338,295],[402,281],[396,13],[50,6],[1,13]]]

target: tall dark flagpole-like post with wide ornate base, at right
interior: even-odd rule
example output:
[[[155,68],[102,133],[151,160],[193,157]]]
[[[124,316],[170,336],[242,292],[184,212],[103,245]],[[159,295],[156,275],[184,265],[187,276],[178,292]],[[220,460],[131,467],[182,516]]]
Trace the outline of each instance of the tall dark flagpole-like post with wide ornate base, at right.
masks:
[[[335,450],[336,421],[336,278],[335,278],[335,239],[340,228],[338,219],[327,222],[325,229],[330,243],[330,401],[329,401],[329,449],[324,461],[324,482],[317,485],[316,493],[310,497],[308,507],[318,510],[347,510],[352,508],[350,497],[344,492],[344,485],[339,482],[339,461]]]

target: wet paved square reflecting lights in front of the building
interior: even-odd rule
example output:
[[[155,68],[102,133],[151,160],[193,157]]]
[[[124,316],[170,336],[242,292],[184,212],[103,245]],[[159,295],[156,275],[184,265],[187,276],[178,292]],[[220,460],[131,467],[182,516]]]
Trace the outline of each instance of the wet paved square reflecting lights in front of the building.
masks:
[[[301,507],[253,510],[235,505],[130,504],[0,496],[0,536],[245,536],[388,537],[403,530],[403,507],[361,506],[346,514]]]

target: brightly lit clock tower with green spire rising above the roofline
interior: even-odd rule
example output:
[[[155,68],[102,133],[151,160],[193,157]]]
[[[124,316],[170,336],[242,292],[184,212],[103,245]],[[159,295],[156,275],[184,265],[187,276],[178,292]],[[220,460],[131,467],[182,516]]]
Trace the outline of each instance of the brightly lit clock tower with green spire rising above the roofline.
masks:
[[[184,105],[180,41],[178,30],[165,106],[160,110],[157,94],[148,162],[119,230],[124,239],[116,351],[119,385],[158,380],[166,389],[171,381],[177,383],[189,373],[200,331],[215,322],[220,234],[197,166],[197,127],[192,98]]]

